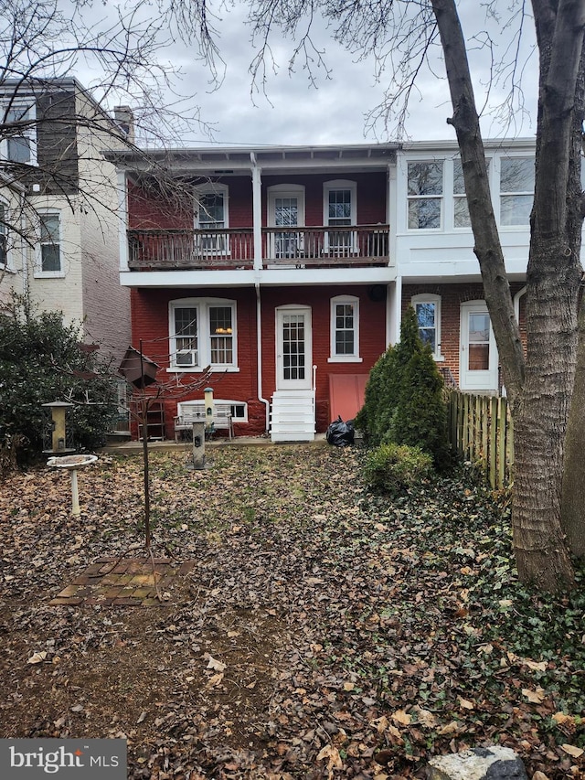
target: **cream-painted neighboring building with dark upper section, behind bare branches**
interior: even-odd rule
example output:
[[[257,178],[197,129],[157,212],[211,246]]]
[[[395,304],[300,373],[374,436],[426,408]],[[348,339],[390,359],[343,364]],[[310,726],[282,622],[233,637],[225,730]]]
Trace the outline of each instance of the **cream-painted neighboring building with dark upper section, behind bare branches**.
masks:
[[[130,295],[119,282],[115,166],[101,152],[122,148],[125,129],[74,79],[4,81],[0,115],[0,209],[10,215],[0,301],[27,294],[119,362]]]

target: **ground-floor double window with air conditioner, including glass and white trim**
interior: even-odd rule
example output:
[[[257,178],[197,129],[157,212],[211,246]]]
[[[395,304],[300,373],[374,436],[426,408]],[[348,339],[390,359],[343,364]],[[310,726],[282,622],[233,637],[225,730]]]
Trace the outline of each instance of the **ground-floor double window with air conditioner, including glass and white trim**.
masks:
[[[237,367],[236,302],[185,298],[169,306],[172,370]]]

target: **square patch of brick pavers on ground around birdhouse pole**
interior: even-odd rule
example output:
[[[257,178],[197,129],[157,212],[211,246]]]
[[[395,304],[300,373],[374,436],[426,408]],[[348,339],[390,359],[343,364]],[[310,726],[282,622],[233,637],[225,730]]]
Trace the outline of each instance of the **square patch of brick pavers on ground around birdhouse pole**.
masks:
[[[179,563],[169,558],[100,558],[49,604],[159,606],[166,602],[158,598],[156,589],[164,595],[177,576],[185,576],[194,566],[195,561]]]

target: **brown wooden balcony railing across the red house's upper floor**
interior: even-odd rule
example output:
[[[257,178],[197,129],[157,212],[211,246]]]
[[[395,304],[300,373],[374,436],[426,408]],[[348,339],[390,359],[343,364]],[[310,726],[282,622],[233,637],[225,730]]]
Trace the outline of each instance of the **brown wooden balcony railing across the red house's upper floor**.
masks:
[[[388,265],[388,225],[262,228],[263,266]],[[128,230],[133,270],[245,268],[254,264],[251,228]]]

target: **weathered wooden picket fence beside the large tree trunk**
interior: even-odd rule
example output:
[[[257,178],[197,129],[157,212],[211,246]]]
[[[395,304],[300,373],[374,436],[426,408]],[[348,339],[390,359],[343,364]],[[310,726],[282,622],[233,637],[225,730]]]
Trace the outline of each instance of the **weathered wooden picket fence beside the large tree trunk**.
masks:
[[[464,460],[479,465],[493,489],[510,485],[514,430],[505,398],[449,390],[449,436]]]

